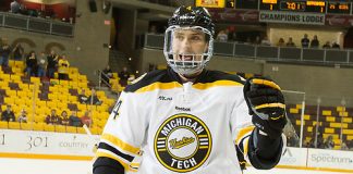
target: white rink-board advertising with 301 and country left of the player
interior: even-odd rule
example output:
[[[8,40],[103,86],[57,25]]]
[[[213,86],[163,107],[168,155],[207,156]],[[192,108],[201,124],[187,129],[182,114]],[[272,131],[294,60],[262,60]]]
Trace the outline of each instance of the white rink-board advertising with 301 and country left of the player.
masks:
[[[94,156],[98,136],[0,129],[1,153]]]

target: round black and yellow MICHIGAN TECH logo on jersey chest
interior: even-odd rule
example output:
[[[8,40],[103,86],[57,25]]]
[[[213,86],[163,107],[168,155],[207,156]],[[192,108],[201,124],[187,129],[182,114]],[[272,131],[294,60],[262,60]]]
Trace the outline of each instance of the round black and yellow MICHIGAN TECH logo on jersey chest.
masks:
[[[205,123],[186,113],[169,117],[155,136],[158,161],[174,172],[199,167],[207,160],[211,146],[211,135]]]

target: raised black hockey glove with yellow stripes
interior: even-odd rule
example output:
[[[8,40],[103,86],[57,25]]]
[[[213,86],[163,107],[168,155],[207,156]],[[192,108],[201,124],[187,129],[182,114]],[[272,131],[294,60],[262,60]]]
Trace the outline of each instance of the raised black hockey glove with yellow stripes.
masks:
[[[244,98],[253,124],[272,139],[280,137],[287,124],[281,88],[270,78],[252,77],[245,83]]]

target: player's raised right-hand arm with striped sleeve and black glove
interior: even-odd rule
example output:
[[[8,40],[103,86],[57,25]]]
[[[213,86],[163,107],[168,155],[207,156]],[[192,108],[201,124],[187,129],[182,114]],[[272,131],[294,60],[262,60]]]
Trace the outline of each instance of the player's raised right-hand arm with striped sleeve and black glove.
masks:
[[[271,169],[285,147],[283,95],[272,80],[251,78],[244,86],[244,99],[246,102],[240,103],[234,111],[236,117],[243,115],[242,121],[234,121],[236,148],[254,167]],[[246,112],[249,115],[244,115]],[[240,162],[244,165],[245,161]]]

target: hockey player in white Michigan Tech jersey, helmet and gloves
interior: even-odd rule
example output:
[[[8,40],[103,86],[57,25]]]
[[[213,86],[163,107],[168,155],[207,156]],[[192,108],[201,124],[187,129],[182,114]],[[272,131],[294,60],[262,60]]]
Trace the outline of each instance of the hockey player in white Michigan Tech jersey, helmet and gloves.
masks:
[[[206,9],[181,7],[168,24],[170,67],[124,89],[101,135],[94,174],[240,174],[244,159],[273,167],[285,146],[280,87],[204,69],[215,35]]]

